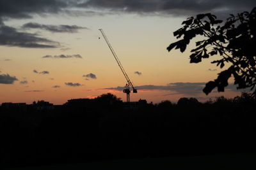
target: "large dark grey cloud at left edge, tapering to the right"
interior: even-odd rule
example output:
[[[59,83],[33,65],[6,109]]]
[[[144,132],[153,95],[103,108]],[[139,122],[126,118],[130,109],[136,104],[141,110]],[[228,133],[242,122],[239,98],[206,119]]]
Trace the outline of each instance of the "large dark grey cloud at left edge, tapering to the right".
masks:
[[[47,38],[40,38],[37,34],[19,32],[13,27],[0,25],[0,45],[24,48],[57,48],[60,43]]]

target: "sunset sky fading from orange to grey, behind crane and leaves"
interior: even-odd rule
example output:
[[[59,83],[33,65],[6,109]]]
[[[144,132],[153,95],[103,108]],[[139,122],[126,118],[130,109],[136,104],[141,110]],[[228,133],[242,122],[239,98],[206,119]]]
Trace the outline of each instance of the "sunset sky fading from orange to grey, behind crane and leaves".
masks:
[[[202,92],[221,72],[211,64],[218,57],[189,64],[193,42],[184,53],[166,47],[188,17],[225,19],[254,6],[255,0],[0,0],[0,103],[64,104],[108,92],[125,101],[125,77],[99,29],[138,89],[131,101],[239,96],[232,78],[225,92]]]

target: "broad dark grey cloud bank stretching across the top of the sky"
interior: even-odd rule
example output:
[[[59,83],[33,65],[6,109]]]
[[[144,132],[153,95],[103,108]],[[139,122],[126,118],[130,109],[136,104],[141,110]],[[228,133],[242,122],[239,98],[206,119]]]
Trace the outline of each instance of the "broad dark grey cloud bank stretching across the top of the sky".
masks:
[[[45,0],[4,1],[0,5],[0,17],[32,18],[33,15],[61,14],[94,16],[124,12],[143,15],[194,15],[195,13],[227,14],[250,11],[255,0]],[[79,9],[80,8],[80,9]],[[103,11],[103,12],[102,12]],[[3,23],[0,18],[0,24]]]

